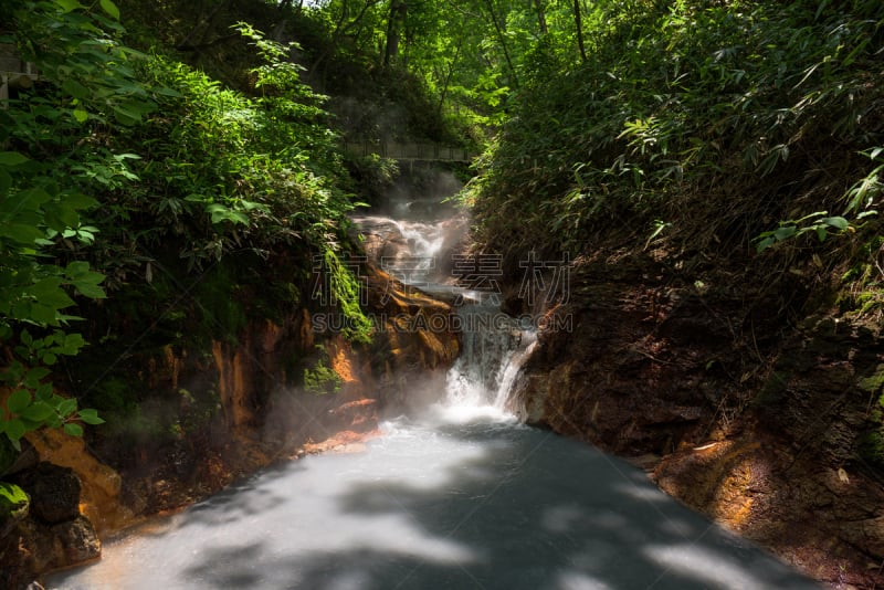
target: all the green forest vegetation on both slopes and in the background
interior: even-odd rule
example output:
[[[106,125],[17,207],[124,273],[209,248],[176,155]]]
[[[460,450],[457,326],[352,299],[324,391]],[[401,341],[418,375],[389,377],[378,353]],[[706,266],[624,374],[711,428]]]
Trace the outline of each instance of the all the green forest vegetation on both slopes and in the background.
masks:
[[[529,250],[659,250],[735,282],[799,277],[804,298],[769,283],[786,316],[812,288],[836,313],[884,309],[877,0],[7,0],[4,14],[0,43],[40,73],[0,108],[13,447],[99,415],[108,433],[204,425],[210,390],[172,392],[192,415],[145,424],[154,393],[130,364],[314,305],[317,265],[346,336],[370,340],[347,214],[397,167],[347,158],[341,138],[484,149],[462,197],[477,247],[507,267]],[[333,389],[332,372],[319,359],[301,384]]]

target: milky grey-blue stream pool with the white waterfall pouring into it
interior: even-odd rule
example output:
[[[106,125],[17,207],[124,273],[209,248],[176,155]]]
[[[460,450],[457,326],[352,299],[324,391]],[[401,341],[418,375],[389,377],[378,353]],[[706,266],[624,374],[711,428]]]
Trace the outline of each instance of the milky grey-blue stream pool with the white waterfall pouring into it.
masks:
[[[400,242],[423,255],[415,244],[441,244],[427,231]],[[818,588],[638,467],[518,423],[506,403],[529,326],[463,339],[436,403],[382,423],[365,452],[265,470],[107,541],[99,562],[46,588]]]

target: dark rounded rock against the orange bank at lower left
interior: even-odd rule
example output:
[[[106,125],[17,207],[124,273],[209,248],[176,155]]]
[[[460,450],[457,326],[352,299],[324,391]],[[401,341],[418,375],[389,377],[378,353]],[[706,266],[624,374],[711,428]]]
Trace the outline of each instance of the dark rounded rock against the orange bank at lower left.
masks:
[[[31,496],[31,514],[44,523],[80,516],[80,480],[73,470],[43,462],[17,474],[14,481]]]

